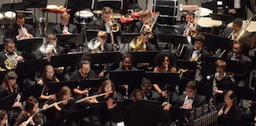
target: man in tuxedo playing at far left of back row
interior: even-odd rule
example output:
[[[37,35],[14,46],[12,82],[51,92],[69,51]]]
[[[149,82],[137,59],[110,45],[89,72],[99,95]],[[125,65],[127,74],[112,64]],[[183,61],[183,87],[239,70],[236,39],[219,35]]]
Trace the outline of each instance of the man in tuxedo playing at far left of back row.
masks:
[[[14,39],[15,41],[32,38],[33,34],[35,34],[34,27],[30,24],[25,24],[25,19],[24,13],[17,13],[16,22],[7,27],[5,38]]]

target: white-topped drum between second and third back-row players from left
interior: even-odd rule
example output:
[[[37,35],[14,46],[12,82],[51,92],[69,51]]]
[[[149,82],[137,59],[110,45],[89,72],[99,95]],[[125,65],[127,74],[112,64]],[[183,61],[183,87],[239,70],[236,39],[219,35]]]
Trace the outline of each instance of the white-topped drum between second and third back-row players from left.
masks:
[[[93,13],[88,10],[77,11],[74,17],[75,24],[88,24],[95,20]]]

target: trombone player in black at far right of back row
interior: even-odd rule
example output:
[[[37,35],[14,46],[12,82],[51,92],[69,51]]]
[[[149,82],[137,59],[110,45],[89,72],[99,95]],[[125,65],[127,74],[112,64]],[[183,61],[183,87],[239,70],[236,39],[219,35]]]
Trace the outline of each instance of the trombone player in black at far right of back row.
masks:
[[[242,29],[243,20],[241,18],[235,18],[232,24],[232,28],[226,27],[222,36],[230,39],[237,39],[238,42],[243,44],[243,55],[248,55],[249,48],[251,46],[252,34],[246,29]],[[245,30],[243,34],[241,32]]]

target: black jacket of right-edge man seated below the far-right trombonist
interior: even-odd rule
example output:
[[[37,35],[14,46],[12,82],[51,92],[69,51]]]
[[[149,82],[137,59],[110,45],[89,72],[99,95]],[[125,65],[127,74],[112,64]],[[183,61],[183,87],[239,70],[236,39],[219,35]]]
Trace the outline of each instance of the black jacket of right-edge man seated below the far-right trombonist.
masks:
[[[227,59],[232,60],[233,53],[227,54]],[[248,87],[248,77],[250,75],[252,61],[246,55],[240,54],[236,57],[237,61],[241,62],[241,73],[234,73],[236,84],[241,87]]]

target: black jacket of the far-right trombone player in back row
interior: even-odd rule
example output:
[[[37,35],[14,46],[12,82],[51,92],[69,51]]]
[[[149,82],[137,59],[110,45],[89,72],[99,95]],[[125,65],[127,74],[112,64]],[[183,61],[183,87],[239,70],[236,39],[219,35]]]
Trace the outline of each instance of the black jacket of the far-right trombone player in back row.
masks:
[[[224,29],[224,32],[222,34],[223,37],[227,38],[232,33],[232,28],[226,27]],[[231,37],[231,39],[234,39]],[[243,55],[248,55],[251,42],[252,42],[252,34],[248,31],[245,31],[245,33],[240,37],[239,42],[243,44]]]

